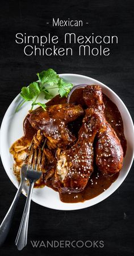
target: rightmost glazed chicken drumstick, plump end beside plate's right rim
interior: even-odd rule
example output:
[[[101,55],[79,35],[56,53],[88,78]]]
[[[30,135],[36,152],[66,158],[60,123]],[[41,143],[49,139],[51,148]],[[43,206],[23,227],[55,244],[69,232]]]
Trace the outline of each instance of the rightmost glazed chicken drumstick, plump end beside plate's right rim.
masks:
[[[98,169],[106,175],[120,171],[123,164],[123,149],[114,129],[104,116],[102,89],[100,86],[87,86],[83,92],[83,99],[88,108],[95,109],[103,116],[103,123],[99,128],[95,141],[95,161]]]

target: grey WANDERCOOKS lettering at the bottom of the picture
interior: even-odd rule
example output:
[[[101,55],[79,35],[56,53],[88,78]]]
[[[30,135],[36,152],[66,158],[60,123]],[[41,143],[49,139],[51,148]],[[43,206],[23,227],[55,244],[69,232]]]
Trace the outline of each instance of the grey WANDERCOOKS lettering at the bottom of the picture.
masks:
[[[52,240],[52,241],[44,241],[44,240],[31,240],[31,245],[33,248],[82,248],[82,247],[87,247],[87,248],[103,248],[104,247],[104,241],[82,241],[82,240],[74,240],[74,241],[69,241],[69,240]]]

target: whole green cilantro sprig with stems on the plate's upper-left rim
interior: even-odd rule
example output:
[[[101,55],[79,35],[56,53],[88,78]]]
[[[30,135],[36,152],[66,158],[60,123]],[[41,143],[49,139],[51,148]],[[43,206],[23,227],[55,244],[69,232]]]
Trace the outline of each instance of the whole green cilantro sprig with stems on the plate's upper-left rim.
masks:
[[[52,97],[54,97],[52,90],[57,88],[61,97],[67,97],[73,87],[72,83],[65,82],[52,68],[37,73],[37,76],[39,79],[37,82],[30,83],[27,87],[22,87],[20,96],[23,101],[16,108],[16,112],[18,112],[27,101],[32,101],[31,110],[34,105],[40,105],[40,107],[45,110],[46,105],[37,101],[40,94],[44,95],[45,100],[52,99]]]

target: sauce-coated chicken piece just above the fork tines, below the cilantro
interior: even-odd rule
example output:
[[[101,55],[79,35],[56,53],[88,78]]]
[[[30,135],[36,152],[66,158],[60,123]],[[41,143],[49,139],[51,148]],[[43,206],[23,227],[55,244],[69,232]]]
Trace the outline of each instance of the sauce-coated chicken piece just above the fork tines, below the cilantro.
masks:
[[[29,121],[33,128],[47,137],[49,149],[65,148],[76,140],[68,129],[68,123],[84,113],[81,105],[58,104],[48,106],[46,111],[37,108],[31,112]]]

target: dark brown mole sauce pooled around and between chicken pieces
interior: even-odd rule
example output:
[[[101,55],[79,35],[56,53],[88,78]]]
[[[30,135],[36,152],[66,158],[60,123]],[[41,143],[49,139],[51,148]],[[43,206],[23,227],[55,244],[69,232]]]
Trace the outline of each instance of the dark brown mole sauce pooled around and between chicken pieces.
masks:
[[[82,99],[83,88],[79,88],[73,92],[72,96],[70,97],[70,103],[74,104],[81,104],[84,109],[86,109],[86,105]],[[123,121],[122,116],[116,105],[106,96],[103,94],[103,102],[105,105],[104,114],[108,123],[111,124],[112,128],[114,128],[115,132],[117,133],[120,143],[123,147],[123,152],[125,156],[125,152],[127,149],[127,141],[124,137],[123,132]],[[55,105],[55,104],[64,104],[66,103],[66,98],[61,98],[59,95],[55,96],[52,100],[48,101],[47,105]],[[79,118],[72,123],[69,124],[69,129],[74,133],[74,135],[78,134],[78,130],[81,127],[82,118]],[[24,136],[27,139],[31,140],[33,135],[35,134],[36,130],[33,129],[28,122],[28,119],[24,120]],[[74,202],[84,202],[91,198],[98,196],[99,194],[103,193],[106,189],[110,187],[110,185],[118,178],[119,173],[114,174],[111,177],[105,177],[97,167],[94,167],[94,172],[91,175],[89,182],[86,185],[86,188],[80,193],[60,193],[60,200],[62,202],[74,203]],[[43,184],[40,184],[42,186]],[[56,188],[52,186],[52,178],[47,181],[47,184],[50,188],[58,191]],[[37,186],[39,187],[39,186]]]

